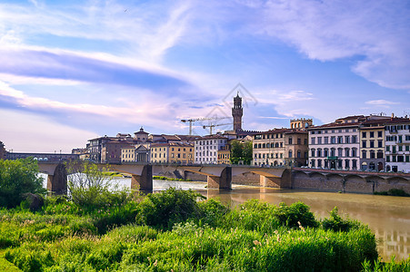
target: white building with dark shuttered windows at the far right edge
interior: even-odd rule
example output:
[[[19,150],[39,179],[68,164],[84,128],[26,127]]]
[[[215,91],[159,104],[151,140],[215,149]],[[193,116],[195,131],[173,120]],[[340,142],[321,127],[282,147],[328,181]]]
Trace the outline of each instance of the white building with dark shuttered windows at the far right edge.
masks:
[[[392,118],[385,123],[385,170],[410,172],[410,120]]]

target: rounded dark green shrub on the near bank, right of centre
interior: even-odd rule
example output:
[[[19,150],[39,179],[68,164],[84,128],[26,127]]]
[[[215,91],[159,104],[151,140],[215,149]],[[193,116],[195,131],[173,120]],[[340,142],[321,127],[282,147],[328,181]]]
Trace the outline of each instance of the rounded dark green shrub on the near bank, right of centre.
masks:
[[[288,228],[299,228],[300,226],[315,228],[318,226],[318,222],[315,220],[309,206],[300,201],[290,206],[282,202],[275,209],[274,214],[279,222]]]

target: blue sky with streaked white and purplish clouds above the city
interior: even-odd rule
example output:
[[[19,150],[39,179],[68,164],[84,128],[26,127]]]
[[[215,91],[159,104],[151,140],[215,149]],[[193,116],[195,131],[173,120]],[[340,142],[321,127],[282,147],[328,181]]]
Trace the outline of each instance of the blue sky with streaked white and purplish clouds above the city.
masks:
[[[71,152],[99,136],[410,115],[410,1],[0,1],[0,141]],[[205,135],[232,119],[196,121]]]

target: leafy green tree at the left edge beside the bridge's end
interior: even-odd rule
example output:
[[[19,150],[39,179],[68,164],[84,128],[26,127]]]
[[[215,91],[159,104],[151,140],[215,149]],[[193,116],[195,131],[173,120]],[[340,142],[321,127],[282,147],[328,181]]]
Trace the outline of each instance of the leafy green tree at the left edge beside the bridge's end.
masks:
[[[0,207],[14,208],[26,193],[44,195],[43,179],[33,158],[0,160]]]

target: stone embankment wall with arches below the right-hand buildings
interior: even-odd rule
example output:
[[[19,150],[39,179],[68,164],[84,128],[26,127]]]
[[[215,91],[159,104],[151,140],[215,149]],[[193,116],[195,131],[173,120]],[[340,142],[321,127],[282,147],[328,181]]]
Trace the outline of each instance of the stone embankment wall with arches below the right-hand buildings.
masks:
[[[384,178],[382,176],[346,175],[309,173],[294,170],[292,173],[292,189],[315,189],[323,191],[342,191],[350,193],[369,193],[403,189],[410,193],[410,179],[399,175]]]

